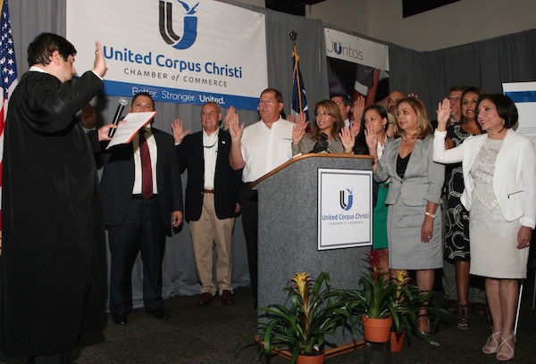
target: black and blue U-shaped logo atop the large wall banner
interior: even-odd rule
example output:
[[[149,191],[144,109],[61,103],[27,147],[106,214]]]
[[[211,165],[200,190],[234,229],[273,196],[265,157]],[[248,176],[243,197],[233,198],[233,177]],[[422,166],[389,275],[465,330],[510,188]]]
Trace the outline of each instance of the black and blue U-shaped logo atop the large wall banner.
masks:
[[[173,48],[188,49],[196,42],[197,38],[197,17],[193,16],[196,13],[197,3],[191,9],[188,4],[183,1],[177,0],[186,9],[186,16],[184,17],[184,34],[182,37],[178,36],[173,30],[172,21],[172,3],[160,0],[159,4],[159,21],[160,35],[163,41],[168,45],[173,45]]]

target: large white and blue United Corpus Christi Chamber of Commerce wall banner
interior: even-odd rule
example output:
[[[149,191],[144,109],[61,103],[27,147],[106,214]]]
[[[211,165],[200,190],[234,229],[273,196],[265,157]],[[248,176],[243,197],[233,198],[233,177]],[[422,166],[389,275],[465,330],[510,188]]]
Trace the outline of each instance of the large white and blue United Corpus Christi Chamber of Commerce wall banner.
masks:
[[[75,68],[104,46],[105,95],[147,91],[155,101],[216,101],[256,110],[268,87],[264,15],[211,0],[67,0]]]

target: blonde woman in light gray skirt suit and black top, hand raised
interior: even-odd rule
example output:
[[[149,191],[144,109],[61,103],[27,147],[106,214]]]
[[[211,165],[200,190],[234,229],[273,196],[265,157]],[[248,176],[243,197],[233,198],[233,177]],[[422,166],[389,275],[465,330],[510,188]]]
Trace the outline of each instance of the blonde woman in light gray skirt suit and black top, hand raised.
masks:
[[[421,291],[431,291],[434,270],[443,266],[441,214],[438,206],[445,167],[432,161],[433,128],[421,100],[407,97],[397,105],[402,137],[387,139],[378,161],[373,124],[366,126],[366,142],[374,157],[377,182],[389,179],[387,229],[389,268],[416,270]],[[437,211],[437,212],[436,212]],[[419,331],[430,332],[427,310],[419,312]]]

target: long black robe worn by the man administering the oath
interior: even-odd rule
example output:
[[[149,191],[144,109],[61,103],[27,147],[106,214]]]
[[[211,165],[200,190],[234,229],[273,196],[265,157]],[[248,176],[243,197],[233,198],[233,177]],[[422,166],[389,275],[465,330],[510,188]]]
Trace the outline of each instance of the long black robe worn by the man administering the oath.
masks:
[[[75,114],[103,88],[88,71],[64,82],[25,73],[4,130],[0,348],[71,350],[102,326],[105,229],[96,164]]]

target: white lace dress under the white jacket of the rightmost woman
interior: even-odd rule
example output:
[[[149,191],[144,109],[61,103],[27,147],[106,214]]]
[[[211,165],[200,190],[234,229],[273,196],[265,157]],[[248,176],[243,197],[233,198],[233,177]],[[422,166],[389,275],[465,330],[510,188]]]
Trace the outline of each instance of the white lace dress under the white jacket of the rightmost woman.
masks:
[[[528,249],[516,249],[519,219],[503,218],[493,193],[495,162],[502,140],[486,138],[471,167],[471,274],[492,278],[524,278]]]

